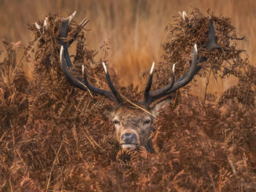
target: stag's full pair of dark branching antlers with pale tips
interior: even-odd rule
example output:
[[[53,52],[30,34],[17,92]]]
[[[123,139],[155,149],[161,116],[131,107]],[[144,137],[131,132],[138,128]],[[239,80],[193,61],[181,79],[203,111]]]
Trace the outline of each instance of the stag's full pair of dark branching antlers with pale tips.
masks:
[[[115,86],[112,83],[112,80],[108,74],[108,69],[106,67],[105,63],[103,64],[104,71],[106,74],[106,80],[108,82],[108,87],[111,91],[107,91],[104,89],[99,89],[97,87],[94,87],[93,85],[88,82],[86,71],[84,70],[84,66],[82,66],[82,73],[83,73],[83,80],[82,78],[74,78],[68,71],[68,67],[72,67],[72,63],[69,57],[68,53],[68,43],[72,43],[75,39],[75,37],[79,34],[79,31],[82,30],[82,27],[84,27],[89,20],[82,20],[82,22],[79,24],[79,27],[77,28],[76,33],[74,34],[73,38],[69,42],[64,42],[64,39],[68,36],[68,27],[71,23],[71,20],[74,18],[75,13],[71,14],[71,16],[68,16],[67,19],[64,19],[60,24],[60,68],[61,71],[63,71],[65,77],[68,79],[68,82],[71,83],[71,85],[82,89],[83,91],[90,91],[96,94],[100,94],[101,96],[107,97],[109,100],[112,100],[113,102],[119,104],[123,103],[122,97],[119,95],[119,92],[115,89]],[[185,14],[184,14],[185,16]],[[206,49],[208,51],[212,51],[214,49],[219,49],[220,46],[216,42],[215,38],[215,28],[214,28],[214,21],[210,18],[210,27],[208,31],[208,37],[207,37],[207,45]],[[175,82],[175,75],[174,75],[174,69],[175,64],[173,65],[172,74],[171,74],[171,80],[165,87],[161,89],[157,89],[155,91],[150,92],[150,89],[152,87],[152,77],[153,77],[153,71],[155,63],[152,63],[152,68],[148,77],[148,83],[144,89],[144,100],[143,103],[146,106],[150,106],[152,102],[155,100],[160,99],[163,96],[169,95],[171,92],[176,91],[177,89],[180,89],[181,87],[187,85],[189,82],[192,81],[192,78],[195,76],[195,74],[198,73],[201,67],[197,66],[197,63],[201,63],[203,61],[207,60],[206,57],[201,57],[198,60],[197,55],[197,46],[194,45],[193,53],[192,53],[192,62],[191,66],[189,67],[188,71],[181,76],[181,78],[178,78]]]

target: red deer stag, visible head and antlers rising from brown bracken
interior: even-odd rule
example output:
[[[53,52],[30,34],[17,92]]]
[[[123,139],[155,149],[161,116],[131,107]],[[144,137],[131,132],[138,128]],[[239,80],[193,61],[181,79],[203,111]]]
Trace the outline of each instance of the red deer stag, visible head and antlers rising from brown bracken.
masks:
[[[73,13],[67,19],[64,19],[60,24],[61,71],[63,71],[63,74],[68,79],[68,82],[70,82],[71,85],[75,86],[76,88],[82,89],[83,91],[87,91],[89,89],[90,92],[100,94],[101,96],[104,96],[109,100],[112,100],[113,103],[115,103],[115,107],[113,107],[112,110],[108,110],[108,113],[106,114],[108,115],[108,118],[112,120],[115,126],[115,139],[120,147],[136,150],[137,147],[144,146],[149,152],[154,152],[154,149],[152,147],[152,141],[150,139],[151,132],[153,131],[152,122],[154,121],[154,117],[158,114],[159,109],[161,109],[161,107],[163,106],[163,103],[166,103],[166,100],[156,103],[153,107],[151,107],[151,104],[155,100],[159,100],[163,98],[163,96],[170,95],[171,92],[175,92],[177,89],[180,89],[181,87],[191,82],[194,75],[197,74],[197,72],[201,68],[197,66],[197,63],[207,60],[207,58],[199,58],[199,56],[197,55],[196,45],[194,45],[192,51],[192,61],[188,71],[185,74],[183,74],[181,78],[178,78],[177,81],[175,81],[175,65],[173,65],[171,74],[172,76],[169,84],[161,89],[150,91],[152,86],[152,76],[154,70],[153,63],[148,77],[148,83],[144,89],[144,98],[139,102],[134,102],[136,103],[137,106],[139,106],[136,108],[134,106],[131,106],[129,103],[124,102],[122,96],[119,94],[117,89],[115,89],[115,86],[112,83],[112,79],[108,74],[108,69],[105,63],[102,64],[104,67],[106,81],[108,82],[108,87],[110,91],[99,89],[91,85],[87,79],[86,71],[83,67],[83,79],[74,78],[69,73],[68,67],[72,67],[72,63],[68,53],[68,45],[70,45],[71,42],[69,42],[68,44],[67,42],[64,42],[63,39],[67,38],[68,27],[74,16],[75,13]],[[88,20],[82,20],[81,24],[79,24],[79,30],[77,31],[77,33],[82,29],[82,27],[87,23],[87,21]],[[213,20],[210,20],[206,48],[209,51],[219,48],[215,40]]]

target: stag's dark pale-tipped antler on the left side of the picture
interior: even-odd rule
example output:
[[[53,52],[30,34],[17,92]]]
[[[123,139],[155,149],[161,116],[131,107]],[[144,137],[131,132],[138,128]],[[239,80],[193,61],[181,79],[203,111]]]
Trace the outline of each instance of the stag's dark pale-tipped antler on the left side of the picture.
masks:
[[[68,16],[67,19],[64,19],[61,24],[60,24],[60,44],[61,44],[61,48],[60,48],[60,69],[61,71],[64,73],[64,76],[68,79],[68,82],[71,83],[71,85],[83,90],[83,91],[90,91],[96,94],[100,94],[101,96],[105,96],[107,97],[109,100],[112,100],[115,103],[122,103],[122,98],[119,95],[119,92],[115,89],[115,86],[112,83],[112,80],[108,74],[108,69],[105,65],[105,63],[103,64],[104,67],[104,71],[106,74],[106,80],[108,82],[108,87],[111,90],[111,92],[104,90],[104,89],[99,89],[97,87],[94,87],[93,85],[90,84],[90,82],[88,82],[87,79],[87,74],[86,71],[84,70],[84,67],[82,67],[82,71],[83,71],[83,80],[82,78],[74,78],[70,72],[68,71],[68,67],[72,67],[72,63],[69,57],[69,53],[68,53],[68,43],[64,42],[64,38],[67,38],[68,36],[68,27],[69,24],[71,23],[71,20],[74,18],[75,13],[71,14],[71,16]],[[76,31],[73,39],[77,36],[77,34],[79,33],[79,31],[82,30],[82,27],[84,27],[89,20],[82,20],[82,22],[79,24],[78,30]],[[70,43],[73,42],[72,40],[70,41]]]

